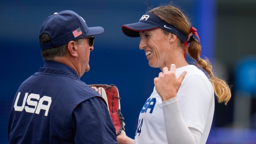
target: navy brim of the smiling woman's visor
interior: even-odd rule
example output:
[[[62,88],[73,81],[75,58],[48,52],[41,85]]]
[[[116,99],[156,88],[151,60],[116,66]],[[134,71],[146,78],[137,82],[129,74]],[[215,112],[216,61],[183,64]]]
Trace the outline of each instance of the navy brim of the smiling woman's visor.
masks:
[[[122,26],[122,31],[128,37],[140,37],[139,31],[150,31],[155,28],[159,28],[158,26],[154,26],[152,24],[147,24],[144,22],[137,22],[133,24],[126,24]]]

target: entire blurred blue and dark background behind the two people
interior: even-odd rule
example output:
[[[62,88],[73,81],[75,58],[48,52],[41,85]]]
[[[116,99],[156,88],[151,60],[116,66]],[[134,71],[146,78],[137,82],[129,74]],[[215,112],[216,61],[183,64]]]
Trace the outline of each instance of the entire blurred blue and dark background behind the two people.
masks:
[[[159,68],[151,68],[140,38],[129,38],[123,24],[139,21],[147,7],[169,0],[1,0],[0,144],[8,143],[9,111],[19,85],[43,67],[40,26],[55,12],[72,10],[89,27],[102,26],[90,54],[87,84],[119,88],[126,134],[134,138],[137,120],[153,91]],[[197,28],[202,54],[218,78],[232,85],[228,105],[218,104],[207,144],[256,144],[256,0],[173,0]],[[193,61],[187,55],[187,61]]]

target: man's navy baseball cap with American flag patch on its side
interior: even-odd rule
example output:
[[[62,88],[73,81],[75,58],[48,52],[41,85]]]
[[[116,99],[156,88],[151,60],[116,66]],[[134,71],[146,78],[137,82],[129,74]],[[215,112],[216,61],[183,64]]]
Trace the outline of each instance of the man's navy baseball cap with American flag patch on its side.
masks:
[[[85,20],[71,10],[55,12],[42,24],[40,34],[48,33],[51,41],[40,43],[41,49],[49,49],[77,40],[83,36],[99,35],[104,32],[100,26],[90,27]]]

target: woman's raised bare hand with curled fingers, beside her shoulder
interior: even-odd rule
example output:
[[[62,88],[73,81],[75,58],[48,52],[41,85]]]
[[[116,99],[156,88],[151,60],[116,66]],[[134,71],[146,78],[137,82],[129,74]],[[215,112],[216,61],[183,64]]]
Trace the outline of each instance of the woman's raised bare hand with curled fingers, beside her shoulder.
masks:
[[[177,78],[175,70],[175,64],[171,64],[170,71],[168,71],[167,67],[164,67],[163,72],[159,73],[158,78],[154,78],[156,92],[160,95],[162,101],[176,97],[180,85],[187,74],[187,71],[184,71]]]

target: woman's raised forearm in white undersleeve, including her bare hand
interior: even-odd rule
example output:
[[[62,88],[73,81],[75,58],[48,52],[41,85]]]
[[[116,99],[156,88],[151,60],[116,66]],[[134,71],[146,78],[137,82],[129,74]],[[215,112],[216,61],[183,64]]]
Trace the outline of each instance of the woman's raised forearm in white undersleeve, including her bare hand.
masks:
[[[169,144],[196,144],[200,141],[201,132],[186,125],[180,111],[177,93],[187,72],[183,72],[179,78],[175,75],[176,66],[167,67],[154,79],[156,91],[162,99],[166,136]],[[193,134],[192,134],[193,133]],[[196,140],[195,140],[196,139]]]

